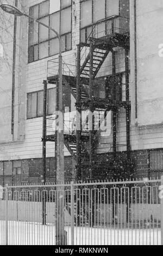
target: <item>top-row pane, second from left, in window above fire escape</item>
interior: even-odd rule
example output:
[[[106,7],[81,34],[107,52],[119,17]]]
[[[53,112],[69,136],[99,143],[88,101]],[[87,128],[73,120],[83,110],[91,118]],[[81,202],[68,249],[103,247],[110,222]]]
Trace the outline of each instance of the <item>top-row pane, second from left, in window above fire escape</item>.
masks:
[[[93,0],[93,23],[105,19],[105,0]]]

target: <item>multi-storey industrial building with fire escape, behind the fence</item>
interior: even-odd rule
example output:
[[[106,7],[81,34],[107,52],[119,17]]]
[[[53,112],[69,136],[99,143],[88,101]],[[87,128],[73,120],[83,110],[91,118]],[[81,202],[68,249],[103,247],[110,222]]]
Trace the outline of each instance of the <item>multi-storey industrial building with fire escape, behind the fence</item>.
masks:
[[[55,27],[62,38],[65,181],[111,178],[117,157],[134,161],[137,178],[160,175],[162,1],[8,3]],[[0,14],[1,183],[42,181],[43,81],[48,86],[46,181],[55,182],[58,39],[26,17]],[[76,131],[76,110],[85,122],[82,131]],[[95,115],[92,131],[83,114],[87,110]],[[95,132],[101,121],[106,130]]]

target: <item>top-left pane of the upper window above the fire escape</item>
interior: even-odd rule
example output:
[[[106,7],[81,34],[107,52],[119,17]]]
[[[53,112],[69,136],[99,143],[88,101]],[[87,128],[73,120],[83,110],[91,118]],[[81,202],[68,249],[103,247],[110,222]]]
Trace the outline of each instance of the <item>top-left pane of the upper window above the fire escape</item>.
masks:
[[[92,0],[81,3],[81,28],[92,24]]]

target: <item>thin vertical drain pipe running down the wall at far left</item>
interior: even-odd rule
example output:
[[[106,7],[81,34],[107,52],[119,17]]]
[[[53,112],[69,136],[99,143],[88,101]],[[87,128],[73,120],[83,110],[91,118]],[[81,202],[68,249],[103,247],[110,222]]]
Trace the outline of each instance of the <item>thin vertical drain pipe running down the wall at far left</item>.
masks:
[[[18,0],[15,0],[15,7],[18,5]],[[17,17],[14,17],[14,39],[13,39],[13,56],[12,56],[12,105],[11,105],[11,135],[14,139],[14,117],[15,117],[15,72],[16,72],[16,31]]]

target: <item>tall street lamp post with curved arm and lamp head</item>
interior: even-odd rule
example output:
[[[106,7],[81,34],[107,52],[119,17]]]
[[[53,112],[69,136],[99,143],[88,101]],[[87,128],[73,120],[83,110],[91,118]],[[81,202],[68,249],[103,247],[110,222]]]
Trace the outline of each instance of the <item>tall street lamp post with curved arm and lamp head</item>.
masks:
[[[5,12],[15,15],[15,16],[26,16],[30,20],[39,23],[40,25],[51,29],[59,40],[59,71],[58,71],[58,83],[57,83],[57,110],[62,114],[63,117],[63,109],[62,109],[62,51],[61,51],[61,37],[54,28],[47,26],[45,23],[42,23],[39,20],[35,20],[32,16],[29,16],[26,13],[23,13],[18,8],[10,5],[10,4],[1,4],[0,6]],[[62,122],[59,122],[59,124]],[[57,128],[57,127],[56,127]],[[56,131],[56,141],[57,141],[57,184],[64,184],[64,125],[59,127]],[[46,180],[46,172],[44,172],[44,181]],[[65,241],[65,230],[64,230],[64,186],[57,188],[57,217],[56,217],[56,243],[57,245],[64,245]]]

